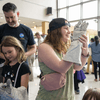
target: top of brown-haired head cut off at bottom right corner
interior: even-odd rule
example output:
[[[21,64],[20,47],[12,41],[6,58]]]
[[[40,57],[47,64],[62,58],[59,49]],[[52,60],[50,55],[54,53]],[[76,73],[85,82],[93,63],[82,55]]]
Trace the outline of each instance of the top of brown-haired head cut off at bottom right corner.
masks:
[[[100,100],[100,89],[88,89],[82,100]]]

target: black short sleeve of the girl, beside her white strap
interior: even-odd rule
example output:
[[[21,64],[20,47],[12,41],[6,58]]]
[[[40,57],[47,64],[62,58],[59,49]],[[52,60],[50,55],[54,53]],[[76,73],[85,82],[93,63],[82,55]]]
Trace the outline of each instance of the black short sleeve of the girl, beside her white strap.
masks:
[[[31,74],[30,68],[27,65],[27,63],[24,62],[21,65],[20,70],[19,70],[19,73],[20,73],[21,76],[24,75],[24,74],[27,74],[27,73]]]

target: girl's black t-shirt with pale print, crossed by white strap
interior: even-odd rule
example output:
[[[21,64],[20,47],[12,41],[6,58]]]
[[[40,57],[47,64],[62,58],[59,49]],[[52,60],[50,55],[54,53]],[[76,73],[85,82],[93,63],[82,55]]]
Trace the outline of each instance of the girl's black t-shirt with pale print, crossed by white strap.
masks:
[[[10,65],[3,66],[2,76],[5,77],[5,82],[7,81],[8,78],[10,78],[12,82],[12,86],[14,86],[15,77],[19,65],[20,63],[16,63],[12,67]],[[21,76],[27,73],[31,74],[29,66],[25,62],[23,62],[17,76],[17,81],[15,85],[16,88],[21,86]]]

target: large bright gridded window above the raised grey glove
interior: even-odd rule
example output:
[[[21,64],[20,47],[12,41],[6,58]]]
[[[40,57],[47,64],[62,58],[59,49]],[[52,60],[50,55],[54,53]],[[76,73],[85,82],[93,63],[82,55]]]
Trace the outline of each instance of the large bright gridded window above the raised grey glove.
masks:
[[[90,1],[90,2],[86,2],[86,1]],[[74,26],[77,24],[77,20],[80,20],[82,18],[84,19],[84,21],[86,19],[86,22],[89,23],[87,30],[90,31],[92,30],[92,32],[94,31],[97,34],[98,20],[96,18],[99,10],[97,7],[98,0],[62,0],[62,1],[58,0],[58,2],[59,5],[61,5],[60,7],[64,7],[62,9],[59,9],[58,17],[66,18],[68,21],[71,22],[71,26],[72,26],[71,31],[74,29]],[[83,2],[83,4],[79,4],[80,2]]]

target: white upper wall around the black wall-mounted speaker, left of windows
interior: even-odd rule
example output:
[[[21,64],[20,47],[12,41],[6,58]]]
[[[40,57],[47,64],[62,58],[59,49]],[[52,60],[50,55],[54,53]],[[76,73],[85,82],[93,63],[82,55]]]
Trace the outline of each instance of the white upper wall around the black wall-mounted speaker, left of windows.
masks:
[[[17,5],[20,11],[20,17],[39,19],[42,21],[51,21],[57,17],[56,0],[0,0],[0,13],[2,13],[2,6],[7,2],[12,2]],[[53,15],[46,15],[47,7],[52,7]]]

